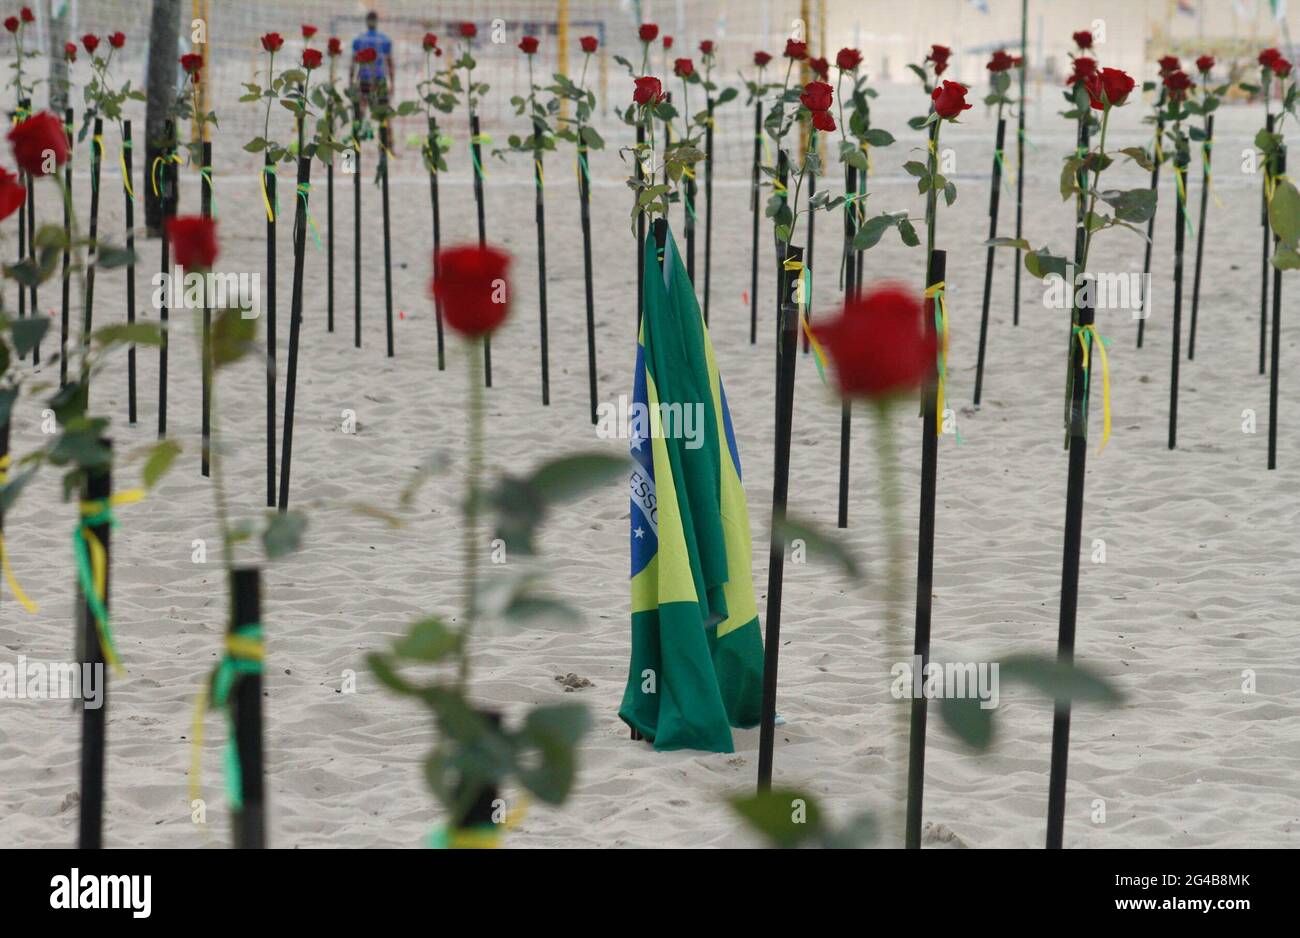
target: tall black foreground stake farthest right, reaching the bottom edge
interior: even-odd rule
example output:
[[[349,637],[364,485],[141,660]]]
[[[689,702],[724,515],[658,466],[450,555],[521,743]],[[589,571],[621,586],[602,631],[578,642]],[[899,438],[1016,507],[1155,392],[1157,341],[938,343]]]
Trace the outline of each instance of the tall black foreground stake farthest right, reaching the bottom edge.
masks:
[[[1084,230],[1075,229],[1075,257],[1083,257]],[[1096,311],[1074,304],[1072,326],[1087,329]],[[1065,550],[1061,560],[1061,625],[1057,663],[1074,664],[1074,633],[1079,612],[1079,546],[1083,539],[1083,483],[1088,460],[1088,382],[1083,362],[1092,360],[1092,334],[1071,333],[1070,429],[1066,435],[1070,473],[1065,496]],[[1060,850],[1065,834],[1065,785],[1070,761],[1070,698],[1057,698],[1052,718],[1052,772],[1048,780],[1048,850]]]

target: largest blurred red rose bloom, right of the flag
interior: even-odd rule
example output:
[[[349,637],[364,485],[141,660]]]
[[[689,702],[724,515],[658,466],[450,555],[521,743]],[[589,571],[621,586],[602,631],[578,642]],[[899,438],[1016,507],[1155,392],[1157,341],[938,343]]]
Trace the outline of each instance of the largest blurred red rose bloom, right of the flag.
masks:
[[[935,369],[939,342],[924,326],[916,295],[901,285],[881,283],[849,300],[836,318],[819,318],[812,334],[826,346],[845,396],[907,394]]]

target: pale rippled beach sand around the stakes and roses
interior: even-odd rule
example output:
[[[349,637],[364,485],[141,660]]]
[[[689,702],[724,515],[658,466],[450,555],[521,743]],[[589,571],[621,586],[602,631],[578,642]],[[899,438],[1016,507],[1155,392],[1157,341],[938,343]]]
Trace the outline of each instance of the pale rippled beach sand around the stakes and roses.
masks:
[[[736,105],[732,105],[736,107]],[[920,110],[915,86],[885,86],[876,121],[900,143],[875,155],[871,209],[919,213],[914,183],[900,170],[918,144],[905,118]],[[1026,231],[1057,249],[1072,240],[1072,207],[1057,194],[1060,157],[1072,131],[1054,101],[1031,109]],[[1127,108],[1112,147],[1149,140],[1145,108]],[[1290,720],[1300,704],[1300,608],[1295,526],[1300,511],[1300,437],[1280,427],[1279,469],[1266,472],[1268,382],[1257,374],[1258,177],[1240,171],[1242,151],[1261,123],[1258,109],[1225,108],[1217,129],[1217,188],[1212,200],[1197,359],[1182,369],[1179,446],[1166,448],[1171,346],[1173,188],[1165,174],[1158,222],[1154,312],[1147,344],[1135,349],[1136,323],[1104,313],[1113,338],[1114,433],[1102,455],[1095,411],[1084,512],[1079,600],[1079,661],[1124,694],[1114,709],[1075,711],[1065,842],[1071,847],[1292,846],[1300,826],[1295,778],[1300,741]],[[962,443],[944,437],[933,587],[933,656],[987,661],[1056,648],[1066,456],[1062,381],[1066,320],[1041,305],[1026,278],[1022,318],[1011,325],[1011,256],[998,259],[989,330],[985,400],[970,407],[979,327],[993,117],[968,112],[944,143],[957,155],[954,207],[944,209],[939,244],[949,251],[952,355],[949,394]],[[1010,135],[1009,135],[1010,136]],[[235,153],[226,142],[222,152]],[[229,162],[233,162],[231,156]],[[443,179],[447,242],[474,236],[469,178],[463,166]],[[318,171],[318,169],[317,169]],[[601,399],[628,394],[634,353],[634,248],[628,195],[614,155],[597,160],[595,308]],[[750,346],[749,190],[744,156],[720,166],[716,188],[712,338],[727,383],[745,470],[754,531],[754,579],[760,607],[767,582],[772,478],[772,275],[764,227],[759,344]],[[321,174],[322,177],[322,174]],[[313,214],[324,227],[322,182]],[[495,383],[488,394],[489,461],[521,473],[575,450],[621,452],[598,439],[586,417],[585,330],[577,205],[572,179],[549,177],[551,405],[540,399],[536,234],[523,162],[491,170],[488,226],[493,242],[516,255],[516,303],[494,342]],[[836,179],[841,178],[836,173]],[[1132,166],[1112,186],[1145,184]],[[369,182],[369,177],[367,177]],[[833,188],[838,187],[833,183]],[[1192,187],[1199,192],[1199,174]],[[79,197],[87,182],[78,177]],[[196,207],[187,171],[185,201]],[[43,204],[52,207],[47,188]],[[438,821],[420,763],[433,730],[425,713],[385,691],[364,664],[416,617],[455,616],[464,564],[456,504],[463,486],[464,352],[448,339],[447,369],[434,357],[429,275],[428,183],[412,162],[393,181],[396,357],[384,353],[378,192],[367,187],[364,347],[351,340],[351,192],[338,194],[338,329],[325,327],[325,259],[307,255],[306,321],[298,387],[292,504],[308,508],[304,550],[265,566],[264,621],[269,841],[277,847],[420,846]],[[105,199],[104,230],[121,226],[118,199]],[[287,201],[287,200],[286,200]],[[261,270],[264,233],[251,171],[218,175],[222,266]],[[1004,197],[1001,231],[1010,233]],[[1014,203],[1013,203],[1014,205]],[[84,210],[84,209],[82,209]],[[673,223],[681,236],[681,210]],[[12,222],[5,225],[12,236]],[[287,352],[289,225],[282,226],[280,374]],[[818,218],[815,313],[835,303],[838,220]],[[1188,259],[1191,259],[1190,240]],[[157,265],[156,242],[142,244],[144,268]],[[12,253],[10,244],[9,252]],[[1141,264],[1132,234],[1108,231],[1095,269]],[[867,255],[867,278],[901,278],[919,288],[923,257],[887,235]],[[142,287],[143,288],[143,287]],[[1287,292],[1295,292],[1288,277]],[[1191,294],[1187,273],[1186,318]],[[47,287],[48,309],[56,291]],[[1290,300],[1290,296],[1287,298]],[[98,283],[96,322],[125,317],[124,278]],[[1287,313],[1290,303],[1284,304]],[[152,316],[152,312],[147,311]],[[77,316],[74,313],[74,321]],[[199,378],[194,320],[173,318],[169,427],[185,452],[140,504],[120,511],[113,535],[112,607],[130,674],[112,685],[105,843],[114,847],[211,847],[229,843],[220,796],[224,728],[208,721],[204,794],[208,822],[191,822],[187,795],[194,695],[220,651],[225,596],[216,552],[211,483],[199,475]],[[1296,401],[1295,331],[1283,320],[1282,413]],[[47,348],[49,343],[47,342]],[[811,359],[801,357],[792,453],[790,511],[833,526],[840,409]],[[281,385],[283,387],[283,385]],[[125,357],[96,381],[94,408],[113,418],[118,485],[135,485],[129,463],[155,439],[157,360],[140,353],[140,422],[126,425]],[[247,361],[221,377],[221,426],[229,482],[240,516],[264,500],[264,370]],[[1243,412],[1257,431],[1243,433]],[[356,431],[344,433],[347,411]],[[920,424],[896,413],[902,440],[907,582],[914,592]],[[881,679],[884,538],[874,429],[853,424],[853,500],[848,542],[870,578],[844,581],[811,557],[785,572],[776,782],[803,787],[837,818],[858,809],[890,811],[902,755],[893,734],[896,707]],[[13,448],[36,446],[40,411],[14,414]],[[439,455],[441,474],[421,490],[402,529],[337,507],[365,501],[393,508],[417,465]],[[538,703],[585,702],[593,729],[581,744],[580,780],[569,802],[533,805],[510,835],[516,847],[750,846],[725,802],[750,791],[757,730],[737,731],[734,754],[656,754],[628,739],[616,709],[628,660],[628,498],[610,486],[551,518],[541,538],[550,587],[581,609],[581,621],[481,634],[473,656],[474,696],[503,707],[507,720]],[[40,603],[22,613],[8,591],[0,615],[0,660],[18,655],[62,660],[70,653],[73,508],[58,479],[44,473],[6,520],[13,566]],[[208,561],[192,563],[195,539]],[[482,550],[489,550],[485,533]],[[1096,540],[1106,563],[1089,563]],[[246,557],[256,560],[257,552]],[[508,569],[508,565],[507,565]],[[507,570],[488,565],[488,577]],[[910,622],[910,603],[905,620]],[[910,626],[909,626],[910,631]],[[1243,673],[1257,682],[1243,692]],[[355,692],[342,692],[355,672]],[[590,686],[566,691],[573,673]],[[932,709],[933,713],[933,709]],[[997,741],[976,754],[931,720],[927,759],[927,846],[1037,847],[1043,843],[1050,741],[1050,702],[1005,686]],[[79,718],[55,702],[4,702],[0,709],[0,839],[12,846],[75,841]],[[1096,804],[1104,802],[1105,821]]]

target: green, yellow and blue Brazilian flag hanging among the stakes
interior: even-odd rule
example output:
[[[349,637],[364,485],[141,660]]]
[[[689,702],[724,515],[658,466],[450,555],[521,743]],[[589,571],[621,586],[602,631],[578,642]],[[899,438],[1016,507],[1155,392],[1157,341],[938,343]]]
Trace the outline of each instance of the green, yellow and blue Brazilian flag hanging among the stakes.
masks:
[[[749,509],[714,347],[671,233],[646,239],[628,409],[632,663],[619,716],[656,750],[732,752],[759,721]],[[662,270],[662,275],[660,275]]]

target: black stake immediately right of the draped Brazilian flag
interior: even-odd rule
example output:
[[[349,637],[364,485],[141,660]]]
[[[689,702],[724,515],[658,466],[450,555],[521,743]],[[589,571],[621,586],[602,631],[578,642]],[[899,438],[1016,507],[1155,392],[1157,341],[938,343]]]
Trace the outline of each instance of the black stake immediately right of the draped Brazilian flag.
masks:
[[[784,162],[785,152],[781,151]],[[786,270],[785,260],[803,261],[803,249],[789,246],[777,255],[781,299],[776,385],[776,448],[772,470],[772,543],[767,555],[767,634],[763,637],[763,711],[758,730],[758,790],[772,787],[776,744],[776,668],[781,653],[781,590],[785,581],[785,498],[790,482],[790,427],[794,420],[794,362],[798,359],[797,285],[801,270]]]

